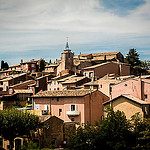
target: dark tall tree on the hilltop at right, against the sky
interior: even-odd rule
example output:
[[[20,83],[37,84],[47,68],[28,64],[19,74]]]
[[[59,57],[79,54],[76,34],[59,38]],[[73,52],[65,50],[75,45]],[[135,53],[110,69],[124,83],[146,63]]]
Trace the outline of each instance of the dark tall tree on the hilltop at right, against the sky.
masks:
[[[139,59],[139,54],[136,52],[136,49],[134,48],[129,50],[129,53],[126,56],[126,60],[132,67],[138,66],[141,64],[140,59]]]

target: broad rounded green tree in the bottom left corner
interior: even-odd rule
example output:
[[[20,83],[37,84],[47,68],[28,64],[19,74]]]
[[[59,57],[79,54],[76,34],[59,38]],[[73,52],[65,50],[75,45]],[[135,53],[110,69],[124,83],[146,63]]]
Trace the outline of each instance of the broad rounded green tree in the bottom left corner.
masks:
[[[39,118],[28,112],[16,109],[0,111],[0,134],[4,139],[9,140],[11,149],[16,136],[30,137],[30,131],[36,130],[38,124]]]

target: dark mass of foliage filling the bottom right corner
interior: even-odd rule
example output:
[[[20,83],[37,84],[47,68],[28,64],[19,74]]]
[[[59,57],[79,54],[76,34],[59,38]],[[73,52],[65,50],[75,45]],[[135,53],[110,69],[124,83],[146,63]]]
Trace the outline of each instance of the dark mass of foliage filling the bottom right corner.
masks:
[[[127,120],[121,111],[107,110],[107,117],[95,126],[82,125],[70,134],[69,149],[148,150],[150,122],[139,113]]]

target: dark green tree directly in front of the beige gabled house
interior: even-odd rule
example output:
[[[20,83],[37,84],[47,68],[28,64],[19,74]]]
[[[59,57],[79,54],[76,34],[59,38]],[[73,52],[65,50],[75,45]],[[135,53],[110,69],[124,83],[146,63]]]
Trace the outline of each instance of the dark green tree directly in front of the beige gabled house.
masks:
[[[101,136],[103,138],[103,148],[107,150],[126,150],[129,149],[132,133],[130,131],[131,124],[126,119],[124,112],[114,112],[112,108],[108,108],[107,117],[99,124]]]

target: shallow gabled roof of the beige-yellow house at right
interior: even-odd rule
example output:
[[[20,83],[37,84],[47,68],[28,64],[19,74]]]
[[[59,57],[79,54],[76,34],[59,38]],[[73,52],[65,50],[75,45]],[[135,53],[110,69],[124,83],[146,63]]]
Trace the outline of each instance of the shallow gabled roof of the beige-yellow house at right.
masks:
[[[105,103],[103,103],[103,104],[105,105],[105,104],[107,104],[107,103],[110,103],[110,102],[112,102],[112,101],[114,101],[114,100],[117,100],[117,99],[120,98],[120,97],[127,98],[128,100],[133,101],[133,102],[135,102],[135,103],[138,103],[138,104],[140,104],[140,105],[150,105],[149,103],[147,103],[147,102],[145,102],[145,101],[143,101],[143,100],[140,100],[140,99],[138,99],[138,98],[136,98],[136,97],[134,97],[134,96],[132,96],[132,95],[129,95],[129,94],[122,94],[122,95],[117,96],[117,97],[113,98],[112,100],[109,100],[109,101],[107,101],[107,102],[105,102]]]

